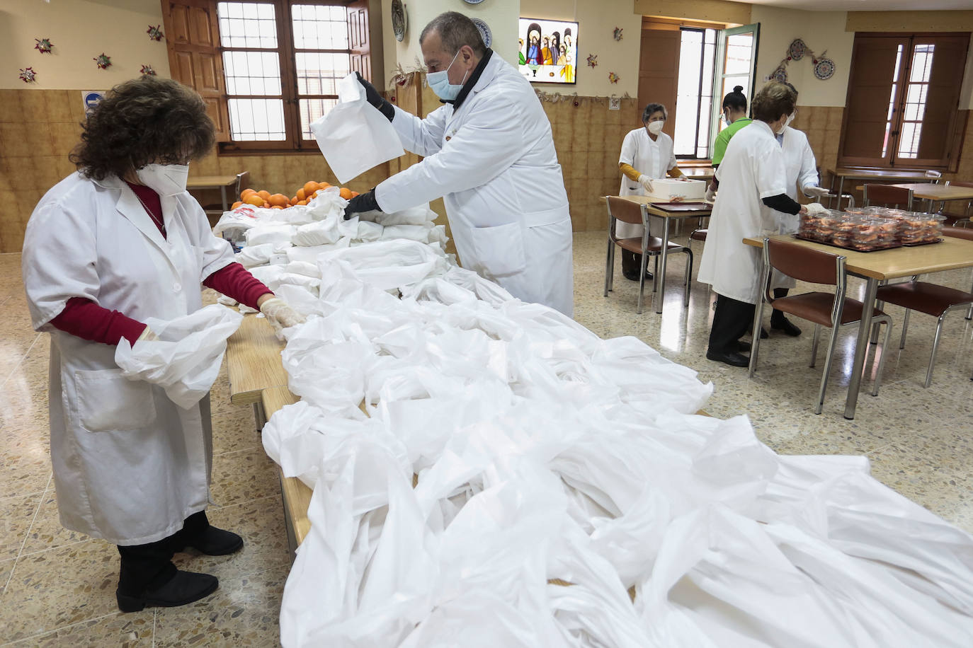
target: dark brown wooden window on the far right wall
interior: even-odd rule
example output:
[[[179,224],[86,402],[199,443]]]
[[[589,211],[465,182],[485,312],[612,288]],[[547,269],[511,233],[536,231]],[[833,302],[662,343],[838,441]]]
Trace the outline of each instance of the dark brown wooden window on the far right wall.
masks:
[[[954,168],[968,46],[968,34],[856,35],[839,163]]]

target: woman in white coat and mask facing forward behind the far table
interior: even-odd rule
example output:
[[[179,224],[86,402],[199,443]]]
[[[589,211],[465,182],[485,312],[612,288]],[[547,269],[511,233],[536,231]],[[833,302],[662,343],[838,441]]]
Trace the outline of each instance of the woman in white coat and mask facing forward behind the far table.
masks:
[[[642,127],[630,130],[622,141],[618,168],[622,172],[619,195],[645,195],[652,191],[652,181],[667,175],[688,180],[676,164],[672,138],[663,132],[668,114],[662,104],[648,104],[642,111]],[[642,225],[616,222],[619,238],[641,238]],[[638,281],[640,259],[633,252],[622,251],[622,274]],[[651,273],[646,272],[648,278]]]

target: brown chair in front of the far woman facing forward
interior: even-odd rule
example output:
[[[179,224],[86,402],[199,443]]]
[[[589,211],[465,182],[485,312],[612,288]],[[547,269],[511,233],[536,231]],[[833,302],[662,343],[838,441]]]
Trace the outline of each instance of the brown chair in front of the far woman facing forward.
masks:
[[[659,255],[662,254],[663,240],[649,233],[649,213],[644,204],[639,204],[628,198],[620,196],[608,196],[608,255],[605,259],[605,295],[612,290],[615,278],[615,248],[620,247],[636,255],[641,256],[642,262],[639,264],[638,274],[638,314],[642,314],[642,295],[645,291],[645,266],[649,256],[656,257],[656,272],[652,278],[652,292],[659,290]],[[615,222],[629,222],[631,224],[641,224],[644,226],[642,238],[624,238],[615,236]],[[689,306],[689,282],[693,274],[693,251],[686,246],[677,243],[668,244],[668,253],[679,252],[686,254],[686,284],[683,296],[683,305]],[[660,294],[660,298],[662,295]],[[660,302],[661,303],[661,302]]]

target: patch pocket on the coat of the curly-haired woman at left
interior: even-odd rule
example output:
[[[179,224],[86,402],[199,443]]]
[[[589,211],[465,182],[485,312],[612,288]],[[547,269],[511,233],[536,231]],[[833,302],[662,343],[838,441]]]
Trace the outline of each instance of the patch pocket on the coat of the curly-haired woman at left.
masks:
[[[140,429],[156,421],[152,385],[128,380],[121,369],[75,371],[78,418],[92,432]]]

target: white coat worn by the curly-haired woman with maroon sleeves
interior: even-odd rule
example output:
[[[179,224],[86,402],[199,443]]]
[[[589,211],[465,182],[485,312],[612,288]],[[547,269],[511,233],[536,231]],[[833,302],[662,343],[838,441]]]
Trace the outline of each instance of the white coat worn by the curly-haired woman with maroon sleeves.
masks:
[[[115,347],[51,320],[87,297],[139,321],[201,308],[200,282],[234,260],[188,193],[162,198],[167,239],[119,178],[75,173],[27,223],[22,272],[35,329],[51,332],[51,460],[61,524],[114,544],[171,535],[209,502],[209,400],[182,409],[129,381]]]

